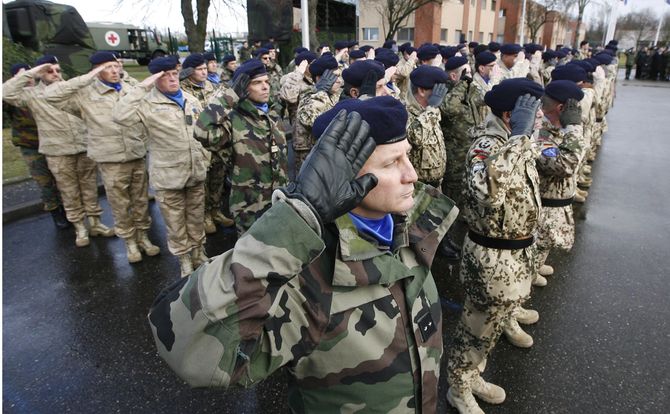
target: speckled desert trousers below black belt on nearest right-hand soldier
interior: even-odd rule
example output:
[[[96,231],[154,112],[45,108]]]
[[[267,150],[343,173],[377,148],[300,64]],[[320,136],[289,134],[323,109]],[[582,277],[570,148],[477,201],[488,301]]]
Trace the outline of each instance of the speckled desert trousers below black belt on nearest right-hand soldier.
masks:
[[[449,385],[460,391],[470,389],[505,321],[529,297],[536,269],[535,245],[518,250],[490,249],[466,236],[462,254],[465,303],[447,368]]]

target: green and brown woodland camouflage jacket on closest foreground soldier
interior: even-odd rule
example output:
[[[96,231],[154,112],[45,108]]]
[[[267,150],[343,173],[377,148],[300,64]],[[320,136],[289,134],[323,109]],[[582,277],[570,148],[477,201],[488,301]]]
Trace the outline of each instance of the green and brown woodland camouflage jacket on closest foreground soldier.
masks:
[[[275,202],[156,299],[159,354],[195,387],[248,387],[286,367],[294,413],[435,412],[442,316],[430,267],[458,209],[420,183],[414,197],[394,216],[390,249],[348,215],[320,236]]]

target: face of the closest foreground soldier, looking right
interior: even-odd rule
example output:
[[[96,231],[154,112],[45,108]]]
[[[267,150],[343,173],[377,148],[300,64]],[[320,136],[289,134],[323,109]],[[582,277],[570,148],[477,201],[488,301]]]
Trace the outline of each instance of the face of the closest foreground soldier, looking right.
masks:
[[[414,205],[414,183],[418,177],[408,153],[411,145],[405,139],[379,145],[358,173],[377,177],[377,186],[354,209],[367,218],[381,218],[388,213],[402,213]]]

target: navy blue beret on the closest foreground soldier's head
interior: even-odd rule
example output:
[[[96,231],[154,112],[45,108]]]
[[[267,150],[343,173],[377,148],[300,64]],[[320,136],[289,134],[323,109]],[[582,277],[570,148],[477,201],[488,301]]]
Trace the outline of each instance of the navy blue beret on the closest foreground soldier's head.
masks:
[[[320,137],[330,122],[341,111],[358,112],[370,125],[370,136],[377,145],[393,144],[405,139],[407,135],[407,110],[392,96],[379,96],[366,100],[345,99],[333,109],[324,112],[314,121],[312,135]]]

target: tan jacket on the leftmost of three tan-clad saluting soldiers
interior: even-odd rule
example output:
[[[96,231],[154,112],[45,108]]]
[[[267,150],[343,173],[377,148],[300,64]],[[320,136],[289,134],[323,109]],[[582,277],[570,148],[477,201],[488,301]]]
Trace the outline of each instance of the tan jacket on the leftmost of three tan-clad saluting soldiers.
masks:
[[[81,117],[49,104],[44,99],[46,86],[41,82],[28,86],[31,79],[30,72],[23,72],[7,80],[3,84],[2,100],[17,108],[30,109],[37,123],[38,151],[53,156],[86,152],[86,125]],[[72,104],[65,109],[77,111]]]

